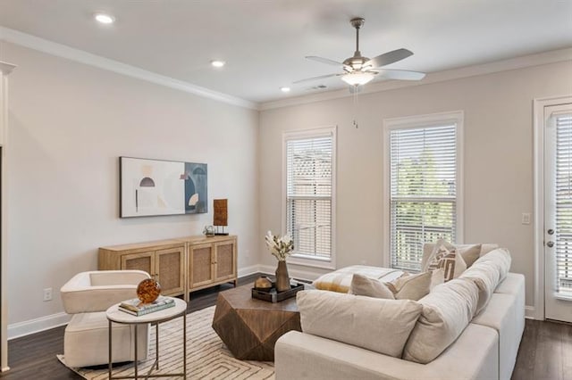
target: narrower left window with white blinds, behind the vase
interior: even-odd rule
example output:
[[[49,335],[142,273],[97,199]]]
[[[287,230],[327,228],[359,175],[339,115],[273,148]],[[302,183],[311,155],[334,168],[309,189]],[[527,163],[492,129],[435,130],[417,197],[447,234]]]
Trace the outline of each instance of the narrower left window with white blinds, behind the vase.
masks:
[[[333,262],[335,128],[284,134],[285,222],[293,262]],[[306,260],[306,262],[304,262]]]

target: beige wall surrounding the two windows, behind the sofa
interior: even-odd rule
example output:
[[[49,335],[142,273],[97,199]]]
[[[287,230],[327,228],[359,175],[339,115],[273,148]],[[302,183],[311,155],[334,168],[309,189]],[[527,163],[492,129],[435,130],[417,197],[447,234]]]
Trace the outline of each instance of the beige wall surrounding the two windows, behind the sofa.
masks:
[[[526,304],[534,306],[533,99],[572,91],[570,62],[405,87],[352,98],[261,112],[260,230],[281,224],[282,131],[338,125],[337,268],[382,265],[383,119],[465,112],[465,242],[494,242],[512,252],[512,271],[526,275]],[[352,126],[357,118],[359,128]],[[270,254],[262,262],[275,266]],[[319,269],[290,265],[297,270]]]

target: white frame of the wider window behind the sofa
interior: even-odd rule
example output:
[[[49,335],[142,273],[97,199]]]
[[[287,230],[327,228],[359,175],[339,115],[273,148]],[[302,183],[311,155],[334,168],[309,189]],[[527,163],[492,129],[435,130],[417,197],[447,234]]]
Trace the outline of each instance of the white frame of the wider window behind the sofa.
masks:
[[[464,112],[438,112],[383,120],[383,267],[391,267],[391,137],[392,130],[440,127],[454,123],[457,134],[456,166],[456,237],[455,244],[464,243]]]

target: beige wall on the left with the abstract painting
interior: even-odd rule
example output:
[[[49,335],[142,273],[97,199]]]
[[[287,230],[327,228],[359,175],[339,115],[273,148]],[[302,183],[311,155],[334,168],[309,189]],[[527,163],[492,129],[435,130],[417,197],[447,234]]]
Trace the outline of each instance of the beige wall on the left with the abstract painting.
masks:
[[[10,77],[9,323],[61,312],[97,247],[199,235],[228,198],[239,268],[257,263],[258,112],[1,43]],[[119,219],[119,156],[206,162],[209,213]],[[43,302],[42,290],[54,289]]]

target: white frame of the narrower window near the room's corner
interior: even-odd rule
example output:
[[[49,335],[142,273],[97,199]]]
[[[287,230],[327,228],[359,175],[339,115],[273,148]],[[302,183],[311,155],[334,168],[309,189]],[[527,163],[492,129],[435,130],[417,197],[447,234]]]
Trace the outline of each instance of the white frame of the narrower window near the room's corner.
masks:
[[[332,194],[331,194],[331,251],[330,258],[317,258],[313,256],[293,253],[288,258],[290,264],[302,265],[306,267],[335,269],[336,263],[336,156],[337,156],[337,126],[300,129],[295,131],[282,132],[282,235],[288,229],[288,157],[287,142],[289,140],[306,139],[312,137],[332,137]]]

